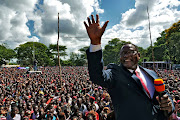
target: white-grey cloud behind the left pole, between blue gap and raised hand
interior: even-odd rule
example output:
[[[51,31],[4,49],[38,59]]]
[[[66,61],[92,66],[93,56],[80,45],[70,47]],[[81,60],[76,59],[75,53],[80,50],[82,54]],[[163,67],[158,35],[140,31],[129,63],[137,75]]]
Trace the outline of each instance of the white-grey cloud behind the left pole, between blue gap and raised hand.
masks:
[[[78,52],[78,49],[89,45],[89,39],[83,24],[94,10],[103,13],[98,0],[44,0],[43,12],[36,11],[35,31],[40,42],[45,45],[57,43],[57,13],[60,19],[60,45],[67,46],[67,52]],[[40,16],[40,17],[38,17]],[[76,38],[78,36],[78,38]]]

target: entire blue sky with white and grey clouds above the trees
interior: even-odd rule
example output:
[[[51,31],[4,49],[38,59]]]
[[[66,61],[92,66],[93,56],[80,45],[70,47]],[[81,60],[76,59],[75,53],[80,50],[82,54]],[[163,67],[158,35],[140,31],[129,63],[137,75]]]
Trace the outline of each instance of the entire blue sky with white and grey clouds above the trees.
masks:
[[[101,24],[109,20],[102,38],[104,47],[113,38],[150,45],[147,6],[153,42],[163,30],[180,20],[180,0],[0,0],[0,44],[14,49],[28,41],[57,43],[60,15],[60,45],[78,52],[89,45],[83,21],[99,14]]]

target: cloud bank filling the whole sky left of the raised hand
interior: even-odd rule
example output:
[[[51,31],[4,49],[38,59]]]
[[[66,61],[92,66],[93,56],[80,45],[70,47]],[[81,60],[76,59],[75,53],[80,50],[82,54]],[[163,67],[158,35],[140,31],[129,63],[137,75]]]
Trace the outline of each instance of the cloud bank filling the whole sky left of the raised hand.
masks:
[[[37,8],[38,7],[38,8]],[[57,13],[60,15],[60,45],[65,45],[68,52],[76,51],[89,45],[89,39],[83,21],[92,12],[103,13],[98,0],[2,0],[0,1],[0,44],[7,43],[10,48],[28,41],[46,44],[57,42]],[[27,27],[28,20],[34,21],[34,33]],[[65,36],[65,37],[63,37]],[[86,37],[73,38],[76,36]]]

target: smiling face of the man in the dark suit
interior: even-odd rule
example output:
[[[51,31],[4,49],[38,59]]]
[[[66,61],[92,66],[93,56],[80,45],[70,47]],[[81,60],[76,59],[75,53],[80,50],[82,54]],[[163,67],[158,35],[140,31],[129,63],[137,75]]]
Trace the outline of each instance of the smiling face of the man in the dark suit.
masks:
[[[127,44],[121,48],[120,61],[127,69],[135,70],[139,59],[140,54],[133,45]]]

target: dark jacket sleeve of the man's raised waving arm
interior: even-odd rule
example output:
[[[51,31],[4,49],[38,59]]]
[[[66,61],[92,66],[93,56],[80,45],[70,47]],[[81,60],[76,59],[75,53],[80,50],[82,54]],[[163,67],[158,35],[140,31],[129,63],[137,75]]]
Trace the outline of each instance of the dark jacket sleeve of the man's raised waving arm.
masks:
[[[91,81],[102,87],[111,88],[113,85],[112,69],[104,70],[102,50],[89,52],[89,49],[87,49],[86,54]]]

